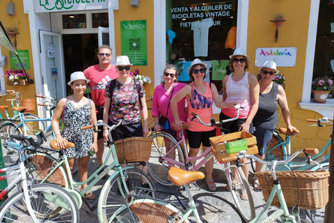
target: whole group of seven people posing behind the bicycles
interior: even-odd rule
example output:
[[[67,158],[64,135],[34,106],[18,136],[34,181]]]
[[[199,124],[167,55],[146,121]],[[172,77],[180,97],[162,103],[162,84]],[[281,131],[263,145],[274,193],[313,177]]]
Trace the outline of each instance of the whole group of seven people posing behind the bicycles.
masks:
[[[99,64],[90,66],[84,72],[72,73],[67,84],[74,93],[58,102],[52,118],[52,128],[56,133],[58,146],[65,147],[65,141],[72,141],[75,144],[74,148],[66,149],[65,154],[70,159],[71,170],[78,157],[81,181],[87,179],[89,151],[95,152],[100,168],[103,163],[104,140],[109,140],[106,127],[101,127],[100,132],[92,134],[90,130],[81,130],[82,126],[94,124],[100,119],[108,125],[116,125],[120,120],[117,114],[122,114],[122,125],[111,132],[114,141],[127,137],[146,137],[149,132],[145,89],[143,82],[138,82],[129,75],[132,66],[129,58],[118,56],[116,65],[113,66],[111,48],[107,45],[99,47],[97,57]],[[261,79],[258,81],[255,75],[247,71],[250,64],[248,59],[246,52],[241,48],[235,49],[230,56],[229,68],[232,73],[223,79],[222,99],[214,84],[204,82],[207,65],[200,59],[194,59],[189,67],[191,84],[177,82],[177,67],[166,66],[163,72],[164,82],[154,89],[153,94],[154,130],[159,132],[163,129],[159,124],[161,116],[168,119],[169,124],[175,123],[177,134],[180,134],[183,123],[191,125],[186,130],[186,137],[189,143],[189,156],[195,157],[201,146],[203,151],[210,148],[209,138],[216,135],[216,130],[214,127],[191,121],[191,113],[196,113],[204,123],[210,123],[210,119],[213,118],[213,103],[221,108],[220,119],[235,117],[237,110],[234,106],[239,104],[244,107],[239,118],[224,123],[222,129],[224,133],[249,132],[255,127],[258,156],[264,159],[273,130],[278,125],[278,105],[282,109],[287,128],[292,130],[294,127],[290,123],[285,91],[282,86],[272,82],[278,73],[276,63],[273,61],[264,63],[260,67]],[[84,96],[88,82],[91,100]],[[61,118],[63,130],[60,130],[58,125]],[[245,160],[243,162],[246,163]],[[216,190],[212,178],[213,165],[213,158],[205,164],[206,182],[211,191]],[[245,164],[243,169],[248,177],[248,164]],[[256,171],[260,169],[261,166],[257,164]],[[253,178],[253,180],[255,189],[260,190],[258,179]],[[86,186],[81,185],[81,190]],[[226,189],[230,190],[228,187]],[[94,199],[95,195],[87,192],[85,197]]]

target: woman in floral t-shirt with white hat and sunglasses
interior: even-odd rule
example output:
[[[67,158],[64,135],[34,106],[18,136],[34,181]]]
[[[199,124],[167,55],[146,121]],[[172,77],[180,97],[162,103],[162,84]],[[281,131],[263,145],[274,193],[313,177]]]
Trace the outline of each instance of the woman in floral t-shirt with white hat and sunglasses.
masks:
[[[103,121],[108,125],[116,125],[119,121],[117,114],[123,115],[122,125],[112,132],[114,141],[129,137],[146,137],[148,136],[148,108],[145,102],[143,82],[140,81],[141,88],[137,92],[134,79],[129,77],[132,64],[127,56],[117,56],[115,66],[118,78],[112,91],[113,95],[110,95],[111,82],[106,84]],[[141,100],[142,110],[138,103],[139,100]],[[141,114],[143,115],[143,127]],[[104,139],[109,140],[107,128],[103,129]]]

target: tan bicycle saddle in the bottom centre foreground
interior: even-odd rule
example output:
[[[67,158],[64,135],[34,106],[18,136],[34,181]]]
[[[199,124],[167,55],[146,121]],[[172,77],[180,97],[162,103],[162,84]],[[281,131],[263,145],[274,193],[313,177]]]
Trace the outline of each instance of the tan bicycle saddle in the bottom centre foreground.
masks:
[[[185,171],[177,167],[170,167],[168,171],[168,178],[177,186],[183,186],[204,177],[205,175],[200,171]]]

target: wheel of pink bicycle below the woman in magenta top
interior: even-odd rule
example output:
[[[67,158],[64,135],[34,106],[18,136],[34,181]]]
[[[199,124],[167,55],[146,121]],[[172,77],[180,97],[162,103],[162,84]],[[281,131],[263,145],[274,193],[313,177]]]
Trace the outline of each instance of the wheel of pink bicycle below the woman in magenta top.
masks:
[[[153,139],[151,156],[148,160],[148,171],[157,183],[164,186],[173,186],[167,176],[168,176],[168,162],[164,160],[164,155],[166,155],[169,149],[173,149],[174,153],[170,154],[169,157],[173,160],[179,160],[184,162],[184,157],[180,145],[177,145],[177,141],[170,134],[165,132],[153,133],[150,135]],[[173,166],[173,165],[172,165]]]

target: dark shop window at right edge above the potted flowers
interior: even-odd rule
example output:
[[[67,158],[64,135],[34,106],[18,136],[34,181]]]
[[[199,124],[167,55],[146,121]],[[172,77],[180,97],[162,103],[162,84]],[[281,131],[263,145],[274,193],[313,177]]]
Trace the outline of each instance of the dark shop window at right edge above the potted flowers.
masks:
[[[332,0],[321,0],[317,24],[315,62],[313,77],[332,77],[334,79],[334,4]],[[334,97],[334,86],[331,89]]]

